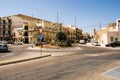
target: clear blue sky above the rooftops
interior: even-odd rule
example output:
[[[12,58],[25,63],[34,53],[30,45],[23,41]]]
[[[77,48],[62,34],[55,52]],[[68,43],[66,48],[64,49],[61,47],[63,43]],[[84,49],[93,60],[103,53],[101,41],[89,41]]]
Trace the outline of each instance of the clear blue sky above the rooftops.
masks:
[[[0,0],[0,17],[25,14],[93,33],[120,18],[120,0]],[[76,19],[75,19],[76,18]]]

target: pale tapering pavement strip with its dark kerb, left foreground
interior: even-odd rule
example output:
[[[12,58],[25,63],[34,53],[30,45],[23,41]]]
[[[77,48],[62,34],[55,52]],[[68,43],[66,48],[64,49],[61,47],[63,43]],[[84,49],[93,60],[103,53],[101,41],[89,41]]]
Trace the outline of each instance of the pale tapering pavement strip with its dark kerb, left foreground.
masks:
[[[17,55],[0,58],[0,66],[49,57],[49,56],[51,56],[51,54],[48,53],[41,54],[40,52],[21,53]]]

